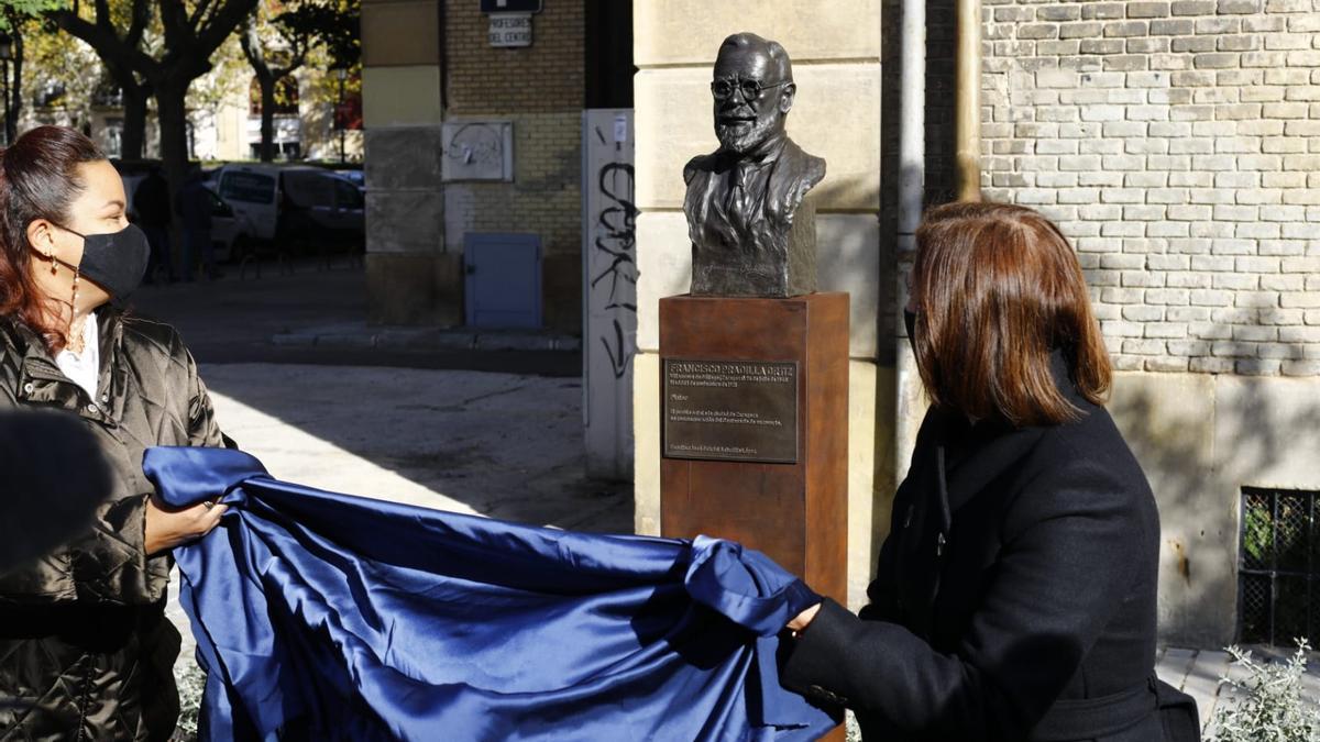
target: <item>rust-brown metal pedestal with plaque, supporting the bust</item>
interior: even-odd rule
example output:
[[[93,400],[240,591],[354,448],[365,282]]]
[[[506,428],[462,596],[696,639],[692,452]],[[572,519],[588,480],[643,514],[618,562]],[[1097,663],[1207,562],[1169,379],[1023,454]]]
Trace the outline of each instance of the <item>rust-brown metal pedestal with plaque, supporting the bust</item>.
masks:
[[[847,306],[660,300],[661,533],[737,540],[845,605]]]

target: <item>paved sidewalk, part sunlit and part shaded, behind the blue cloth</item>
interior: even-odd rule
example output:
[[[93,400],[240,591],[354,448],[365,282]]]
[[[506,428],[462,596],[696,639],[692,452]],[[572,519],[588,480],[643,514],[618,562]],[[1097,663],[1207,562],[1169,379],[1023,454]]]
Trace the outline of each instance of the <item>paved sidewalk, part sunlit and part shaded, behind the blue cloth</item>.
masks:
[[[577,379],[203,364],[216,417],[272,475],[537,525],[631,531],[631,486],[583,477]]]

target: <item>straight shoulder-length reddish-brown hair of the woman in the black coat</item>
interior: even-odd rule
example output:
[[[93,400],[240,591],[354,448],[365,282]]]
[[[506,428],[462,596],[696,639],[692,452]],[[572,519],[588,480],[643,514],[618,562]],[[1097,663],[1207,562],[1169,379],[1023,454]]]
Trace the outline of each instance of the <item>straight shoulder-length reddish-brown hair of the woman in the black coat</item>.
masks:
[[[1059,351],[1104,403],[1109,353],[1067,238],[1024,206],[949,203],[916,232],[913,347],[931,401],[975,419],[1053,425],[1080,415],[1055,384]]]

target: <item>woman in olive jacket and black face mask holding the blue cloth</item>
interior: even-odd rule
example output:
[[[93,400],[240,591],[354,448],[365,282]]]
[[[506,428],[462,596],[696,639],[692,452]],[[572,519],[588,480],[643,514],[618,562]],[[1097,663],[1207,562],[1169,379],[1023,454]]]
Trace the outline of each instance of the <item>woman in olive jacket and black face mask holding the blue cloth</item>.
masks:
[[[0,574],[4,739],[166,739],[178,717],[169,551],[224,506],[160,504],[143,452],[232,444],[178,334],[115,306],[149,256],[124,209],[119,173],[73,129],[0,154],[0,413],[77,416],[112,473],[90,531]]]

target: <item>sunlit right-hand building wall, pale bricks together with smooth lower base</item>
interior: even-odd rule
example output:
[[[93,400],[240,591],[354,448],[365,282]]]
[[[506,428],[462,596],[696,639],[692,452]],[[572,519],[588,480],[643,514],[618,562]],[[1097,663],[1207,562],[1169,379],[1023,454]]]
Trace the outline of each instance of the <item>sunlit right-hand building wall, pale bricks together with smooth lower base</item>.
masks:
[[[1162,639],[1226,644],[1242,489],[1320,490],[1320,4],[983,1],[983,191],[1077,248]]]

